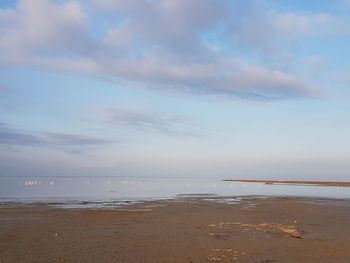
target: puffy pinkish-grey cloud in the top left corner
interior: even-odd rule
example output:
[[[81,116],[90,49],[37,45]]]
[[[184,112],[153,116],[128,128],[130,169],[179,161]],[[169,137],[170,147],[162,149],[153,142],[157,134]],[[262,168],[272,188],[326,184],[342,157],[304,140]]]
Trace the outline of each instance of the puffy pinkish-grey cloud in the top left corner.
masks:
[[[21,0],[16,10],[1,10],[0,20],[4,22],[0,24],[0,47],[11,56],[79,53],[84,50],[81,44],[88,40],[78,1],[56,4],[49,0]]]

